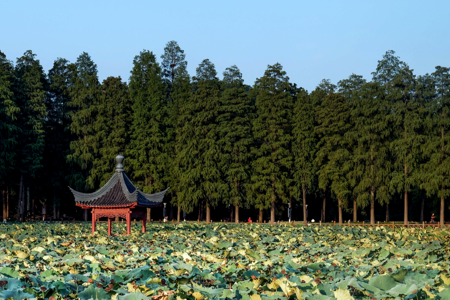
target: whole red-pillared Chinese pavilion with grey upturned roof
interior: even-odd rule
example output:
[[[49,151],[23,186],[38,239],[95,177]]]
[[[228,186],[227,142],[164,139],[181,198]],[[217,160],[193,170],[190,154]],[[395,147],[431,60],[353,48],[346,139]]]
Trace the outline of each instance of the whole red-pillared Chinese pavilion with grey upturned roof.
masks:
[[[167,189],[147,194],[139,190],[125,175],[122,155],[117,155],[117,165],[112,177],[99,190],[82,193],[70,188],[75,197],[75,204],[81,208],[92,208],[92,235],[95,231],[95,220],[108,218],[108,235],[111,235],[111,222],[116,216],[126,219],[126,234],[130,233],[131,217],[142,219],[142,232],[145,232],[146,208],[161,206]]]

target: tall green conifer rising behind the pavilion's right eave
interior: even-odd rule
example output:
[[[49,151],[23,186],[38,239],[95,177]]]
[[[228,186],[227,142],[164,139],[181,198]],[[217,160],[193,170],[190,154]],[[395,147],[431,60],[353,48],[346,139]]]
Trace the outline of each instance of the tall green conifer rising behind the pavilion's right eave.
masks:
[[[134,57],[129,77],[132,124],[131,142],[126,152],[133,178],[147,193],[160,191],[164,187],[165,88],[156,56],[153,52],[142,50]]]

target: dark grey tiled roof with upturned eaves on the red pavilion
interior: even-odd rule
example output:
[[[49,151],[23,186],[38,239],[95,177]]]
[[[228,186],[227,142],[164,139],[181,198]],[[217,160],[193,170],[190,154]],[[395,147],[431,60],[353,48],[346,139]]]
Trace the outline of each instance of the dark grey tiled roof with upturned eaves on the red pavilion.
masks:
[[[75,197],[76,205],[89,207],[160,206],[168,188],[153,194],[142,192],[125,175],[121,164],[123,156],[117,156],[116,160],[117,167],[114,174],[97,191],[82,193],[69,187]]]

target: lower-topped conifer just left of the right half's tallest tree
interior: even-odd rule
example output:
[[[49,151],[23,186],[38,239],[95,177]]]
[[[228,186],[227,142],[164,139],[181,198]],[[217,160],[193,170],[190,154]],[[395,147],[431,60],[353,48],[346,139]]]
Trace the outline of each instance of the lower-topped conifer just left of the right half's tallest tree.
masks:
[[[379,82],[364,83],[358,94],[351,107],[354,130],[347,133],[357,144],[353,150],[354,193],[361,207],[370,204],[370,223],[374,224],[375,200],[384,203],[389,199],[390,105]]]

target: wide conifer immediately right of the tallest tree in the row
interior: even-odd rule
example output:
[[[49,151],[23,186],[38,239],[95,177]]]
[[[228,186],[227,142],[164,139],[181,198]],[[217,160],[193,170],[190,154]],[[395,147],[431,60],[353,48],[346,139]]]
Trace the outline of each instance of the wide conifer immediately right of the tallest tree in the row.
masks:
[[[192,205],[203,203],[206,221],[210,222],[211,207],[215,206],[225,190],[219,166],[220,149],[217,144],[216,123],[219,111],[220,85],[215,77],[214,64],[204,59],[193,78],[195,90],[182,106],[182,127],[177,130],[179,146],[175,158],[179,178],[178,202],[181,208],[192,211]]]

